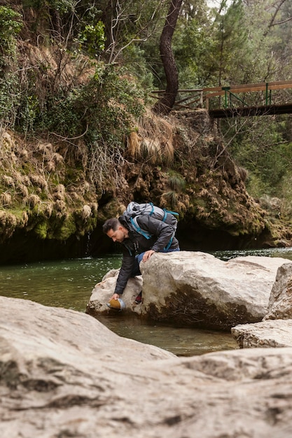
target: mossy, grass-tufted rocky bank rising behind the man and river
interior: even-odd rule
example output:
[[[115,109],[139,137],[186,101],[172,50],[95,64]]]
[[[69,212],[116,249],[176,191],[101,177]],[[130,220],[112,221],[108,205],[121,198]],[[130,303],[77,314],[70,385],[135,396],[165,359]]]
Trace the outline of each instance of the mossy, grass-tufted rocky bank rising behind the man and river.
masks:
[[[290,244],[289,232],[272,225],[246,192],[246,175],[205,110],[163,119],[146,113],[102,187],[88,175],[82,141],[29,141],[2,131],[0,143],[0,262],[108,251],[102,223],[131,200],[177,211],[182,249]]]

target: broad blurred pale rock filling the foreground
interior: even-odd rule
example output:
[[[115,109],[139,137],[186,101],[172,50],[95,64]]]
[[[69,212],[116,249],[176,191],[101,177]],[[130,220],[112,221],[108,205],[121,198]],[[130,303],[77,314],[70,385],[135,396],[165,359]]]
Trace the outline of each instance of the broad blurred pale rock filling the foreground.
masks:
[[[0,306],[1,437],[291,437],[292,348],[176,358],[85,313]]]

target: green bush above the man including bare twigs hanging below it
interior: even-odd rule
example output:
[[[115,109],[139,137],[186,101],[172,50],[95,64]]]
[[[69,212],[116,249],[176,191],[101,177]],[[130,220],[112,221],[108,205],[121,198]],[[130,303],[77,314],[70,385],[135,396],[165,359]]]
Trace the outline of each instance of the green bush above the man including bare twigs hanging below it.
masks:
[[[126,71],[99,64],[88,83],[69,90],[61,86],[42,111],[36,108],[36,99],[27,97],[26,102],[22,129],[48,131],[68,141],[83,138],[91,181],[99,188],[118,181],[125,137],[144,112],[144,91]],[[27,116],[31,117],[29,125]]]

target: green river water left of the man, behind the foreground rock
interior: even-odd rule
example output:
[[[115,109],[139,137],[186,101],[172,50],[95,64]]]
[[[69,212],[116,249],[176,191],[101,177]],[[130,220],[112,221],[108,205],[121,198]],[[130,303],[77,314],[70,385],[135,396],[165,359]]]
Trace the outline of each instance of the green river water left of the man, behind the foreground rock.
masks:
[[[84,312],[92,289],[120,256],[39,262],[0,268],[0,295]]]

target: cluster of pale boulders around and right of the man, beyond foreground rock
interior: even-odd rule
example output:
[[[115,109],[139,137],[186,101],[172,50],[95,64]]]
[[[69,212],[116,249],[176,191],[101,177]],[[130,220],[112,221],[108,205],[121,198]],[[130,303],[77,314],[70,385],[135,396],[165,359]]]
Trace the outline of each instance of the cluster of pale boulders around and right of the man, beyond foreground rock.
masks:
[[[207,253],[155,254],[130,278],[124,312],[178,325],[231,330],[240,348],[292,347],[292,262],[281,257],[236,257],[223,262]],[[108,313],[118,270],[92,290],[87,312]],[[142,290],[142,304],[134,299]]]

